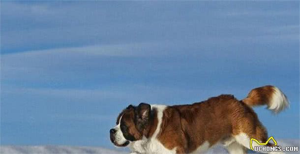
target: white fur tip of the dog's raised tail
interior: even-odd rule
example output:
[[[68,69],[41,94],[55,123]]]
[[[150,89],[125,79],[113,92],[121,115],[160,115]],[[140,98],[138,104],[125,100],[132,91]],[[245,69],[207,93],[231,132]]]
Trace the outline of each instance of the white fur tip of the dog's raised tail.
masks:
[[[272,110],[274,113],[278,113],[281,110],[284,110],[290,106],[288,99],[283,94],[283,92],[277,87],[273,88],[272,99],[269,105],[269,110]]]

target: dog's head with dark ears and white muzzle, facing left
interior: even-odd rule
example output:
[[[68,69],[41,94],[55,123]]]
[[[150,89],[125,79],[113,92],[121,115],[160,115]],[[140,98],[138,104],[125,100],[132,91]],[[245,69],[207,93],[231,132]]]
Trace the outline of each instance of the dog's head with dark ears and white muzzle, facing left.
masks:
[[[143,138],[150,122],[151,106],[140,103],[129,105],[117,118],[117,126],[110,130],[110,139],[114,145],[125,147],[130,142]]]

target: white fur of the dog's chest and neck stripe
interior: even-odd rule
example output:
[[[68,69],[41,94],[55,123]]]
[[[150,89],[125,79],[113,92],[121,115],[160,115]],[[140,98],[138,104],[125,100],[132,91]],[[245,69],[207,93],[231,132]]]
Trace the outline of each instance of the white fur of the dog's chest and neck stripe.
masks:
[[[169,150],[165,148],[158,140],[157,135],[160,132],[163,110],[166,106],[163,105],[151,105],[151,109],[155,108],[157,110],[157,128],[153,133],[152,137],[143,137],[142,140],[134,141],[129,144],[129,148],[132,152],[138,154],[176,154],[176,148]],[[134,154],[133,153],[133,154]]]

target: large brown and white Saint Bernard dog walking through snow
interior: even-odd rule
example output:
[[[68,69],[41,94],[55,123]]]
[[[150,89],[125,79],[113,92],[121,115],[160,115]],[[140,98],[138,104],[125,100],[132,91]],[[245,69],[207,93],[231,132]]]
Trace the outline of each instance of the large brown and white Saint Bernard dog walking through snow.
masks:
[[[110,130],[110,139],[118,147],[128,146],[132,154],[203,153],[217,143],[230,154],[244,154],[251,138],[261,143],[268,139],[251,109],[259,105],[278,113],[289,103],[281,90],[264,86],[252,89],[243,100],[220,95],[188,105],[129,105]]]

